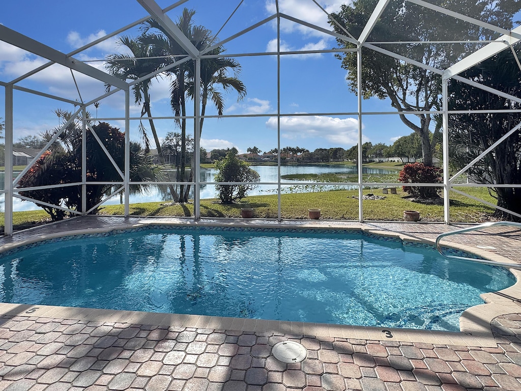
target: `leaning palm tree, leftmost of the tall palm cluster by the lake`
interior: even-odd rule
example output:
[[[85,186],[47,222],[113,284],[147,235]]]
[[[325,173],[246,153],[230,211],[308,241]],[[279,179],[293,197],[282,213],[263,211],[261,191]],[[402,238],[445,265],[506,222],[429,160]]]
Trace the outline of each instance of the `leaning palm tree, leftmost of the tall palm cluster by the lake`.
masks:
[[[121,36],[118,43],[122,46],[126,46],[132,52],[132,55],[128,54],[111,54],[107,56],[106,69],[112,76],[116,76],[121,80],[138,80],[143,76],[150,75],[164,65],[162,58],[156,58],[160,56],[158,52],[159,48],[150,42],[146,42],[146,36],[142,35],[137,39],[131,39],[128,36]],[[146,58],[144,57],[154,57]],[[137,105],[143,105],[141,108],[141,116],[145,114],[148,117],[148,124],[154,137],[154,142],[157,149],[157,157],[160,164],[165,164],[165,157],[157,136],[156,127],[152,119],[152,113],[150,109],[150,86],[154,78],[149,78],[132,86],[134,92],[134,102]],[[106,86],[107,91],[110,86]],[[150,151],[150,140],[148,139],[146,129],[143,123],[140,121],[139,130],[141,137],[145,144],[145,152]],[[169,186],[172,198],[177,201],[178,195],[173,186]]]

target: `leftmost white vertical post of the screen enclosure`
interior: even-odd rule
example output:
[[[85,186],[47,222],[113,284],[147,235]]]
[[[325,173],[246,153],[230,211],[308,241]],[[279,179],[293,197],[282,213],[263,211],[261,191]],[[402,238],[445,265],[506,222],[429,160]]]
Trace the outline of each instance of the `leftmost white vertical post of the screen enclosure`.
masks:
[[[4,233],[13,235],[13,84],[5,86]]]

